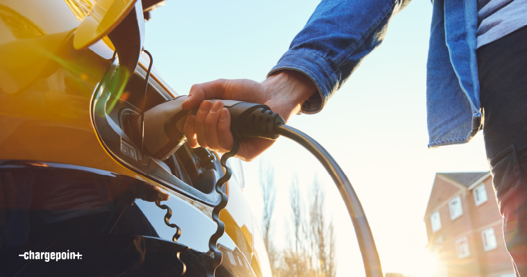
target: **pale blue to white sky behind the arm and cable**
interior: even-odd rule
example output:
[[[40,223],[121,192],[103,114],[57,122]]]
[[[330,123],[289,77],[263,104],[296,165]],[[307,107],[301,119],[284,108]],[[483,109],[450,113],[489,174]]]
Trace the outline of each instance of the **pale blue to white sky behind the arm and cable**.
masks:
[[[145,49],[178,94],[188,94],[194,83],[218,78],[263,81],[318,3],[167,0],[146,24]],[[430,1],[412,1],[392,19],[383,44],[324,110],[288,122],[322,144],[346,172],[365,209],[385,273],[430,276],[433,265],[427,263],[423,217],[436,172],[489,170],[481,134],[469,144],[426,147],[431,13]],[[288,243],[293,176],[299,176],[305,195],[318,176],[335,224],[337,276],[364,276],[351,219],[337,188],[319,162],[287,138],[256,160],[243,162],[244,194],[256,221],[262,213],[261,162],[274,166],[278,247]]]

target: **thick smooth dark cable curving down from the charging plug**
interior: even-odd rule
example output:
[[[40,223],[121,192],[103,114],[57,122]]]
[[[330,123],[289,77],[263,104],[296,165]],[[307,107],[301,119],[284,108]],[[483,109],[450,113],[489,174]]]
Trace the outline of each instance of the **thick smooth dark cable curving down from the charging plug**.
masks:
[[[371,233],[369,228],[368,220],[362,205],[358,199],[353,186],[348,180],[344,171],[335,162],[330,153],[324,149],[318,142],[313,140],[310,136],[302,133],[287,125],[276,124],[274,126],[274,132],[278,135],[290,138],[295,142],[298,142],[310,151],[315,157],[321,162],[326,171],[328,171],[331,178],[337,185],[340,195],[348,208],[351,221],[353,222],[353,228],[355,228],[355,234],[359,243],[360,253],[362,254],[362,262],[367,277],[383,277],[383,269],[380,267],[380,259],[375,246],[374,235]]]

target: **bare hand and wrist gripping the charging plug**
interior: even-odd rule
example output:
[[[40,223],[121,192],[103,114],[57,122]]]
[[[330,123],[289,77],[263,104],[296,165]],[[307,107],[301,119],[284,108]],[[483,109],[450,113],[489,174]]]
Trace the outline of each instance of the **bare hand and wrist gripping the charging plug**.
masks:
[[[317,87],[306,75],[285,70],[269,76],[262,83],[238,79],[224,80],[192,85],[183,109],[199,107],[196,115],[189,116],[184,132],[190,147],[198,146],[226,153],[233,148],[231,115],[221,101],[212,105],[206,99],[224,99],[261,103],[278,112],[285,122],[295,115],[304,101],[317,92]],[[236,157],[253,160],[273,144],[273,140],[251,138],[240,141],[240,151]]]

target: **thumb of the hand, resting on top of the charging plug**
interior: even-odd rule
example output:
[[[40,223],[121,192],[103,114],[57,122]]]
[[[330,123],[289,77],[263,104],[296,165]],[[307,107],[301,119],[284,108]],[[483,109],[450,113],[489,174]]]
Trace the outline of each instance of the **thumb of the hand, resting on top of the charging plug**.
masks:
[[[223,99],[227,82],[228,80],[218,79],[212,82],[192,85],[187,99],[183,102],[183,110],[198,108],[199,104],[206,99]]]

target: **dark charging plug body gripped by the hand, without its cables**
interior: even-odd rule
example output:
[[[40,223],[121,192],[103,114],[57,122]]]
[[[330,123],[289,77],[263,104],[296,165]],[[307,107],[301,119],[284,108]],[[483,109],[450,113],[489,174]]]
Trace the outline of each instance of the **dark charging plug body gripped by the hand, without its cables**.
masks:
[[[187,140],[183,126],[189,115],[196,115],[198,109],[183,110],[181,107],[186,95],[160,103],[144,112],[145,148],[160,160],[172,155]],[[219,101],[211,99],[212,103]],[[233,100],[221,100],[231,113],[231,133],[238,140],[249,137],[262,137],[276,140],[276,124],[285,124],[283,118],[272,112],[268,106]],[[141,120],[141,119],[138,119]],[[140,126],[140,121],[137,122]]]

